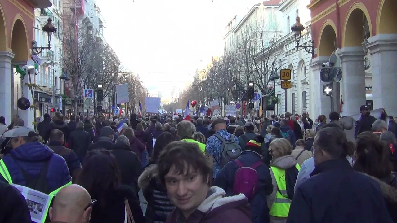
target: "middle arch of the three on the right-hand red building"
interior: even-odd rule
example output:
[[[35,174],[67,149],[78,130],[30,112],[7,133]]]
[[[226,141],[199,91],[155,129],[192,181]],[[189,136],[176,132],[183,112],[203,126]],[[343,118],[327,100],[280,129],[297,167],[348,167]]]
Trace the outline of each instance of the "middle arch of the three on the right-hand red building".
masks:
[[[361,2],[355,2],[346,14],[342,47],[362,46],[364,38],[372,36],[372,23],[368,10]]]

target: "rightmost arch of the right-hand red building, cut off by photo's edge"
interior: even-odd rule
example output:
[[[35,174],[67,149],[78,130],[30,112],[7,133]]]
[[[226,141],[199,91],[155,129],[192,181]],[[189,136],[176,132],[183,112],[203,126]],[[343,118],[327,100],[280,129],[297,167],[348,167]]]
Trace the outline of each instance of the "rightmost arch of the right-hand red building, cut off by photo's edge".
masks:
[[[376,35],[397,33],[397,2],[381,0],[376,17]]]

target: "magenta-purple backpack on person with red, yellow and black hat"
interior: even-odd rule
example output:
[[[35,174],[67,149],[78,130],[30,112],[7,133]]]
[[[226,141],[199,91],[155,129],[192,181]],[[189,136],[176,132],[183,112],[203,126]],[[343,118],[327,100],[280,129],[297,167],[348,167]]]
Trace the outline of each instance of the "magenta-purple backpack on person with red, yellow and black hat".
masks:
[[[258,172],[255,169],[263,162],[258,161],[251,167],[245,167],[241,161],[233,161],[239,166],[234,177],[233,194],[244,194],[248,200],[251,200],[258,190]]]

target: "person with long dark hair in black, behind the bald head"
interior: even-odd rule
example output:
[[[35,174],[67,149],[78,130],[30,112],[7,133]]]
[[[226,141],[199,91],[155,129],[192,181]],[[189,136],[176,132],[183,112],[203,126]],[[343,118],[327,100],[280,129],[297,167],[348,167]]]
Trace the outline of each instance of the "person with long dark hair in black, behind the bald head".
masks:
[[[135,223],[146,222],[137,195],[128,186],[121,185],[116,158],[107,150],[95,150],[87,155],[77,184],[83,186],[92,199],[98,200],[90,223],[124,223],[126,204]]]

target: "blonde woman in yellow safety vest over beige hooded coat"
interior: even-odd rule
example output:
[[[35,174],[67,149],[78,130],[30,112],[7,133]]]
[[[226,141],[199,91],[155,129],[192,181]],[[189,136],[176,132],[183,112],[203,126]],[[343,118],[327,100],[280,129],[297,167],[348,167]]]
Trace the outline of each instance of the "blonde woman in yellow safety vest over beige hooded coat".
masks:
[[[285,138],[276,138],[270,142],[270,175],[273,192],[266,197],[269,207],[270,223],[285,223],[294,195],[295,181],[301,169],[292,156],[291,143]]]

